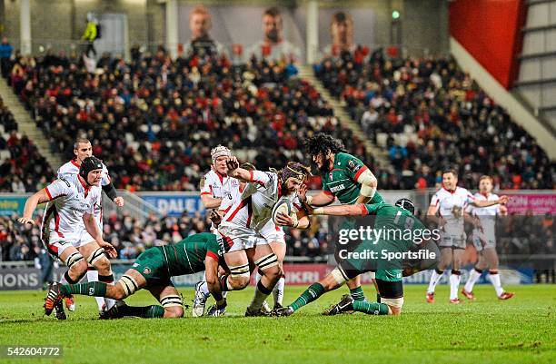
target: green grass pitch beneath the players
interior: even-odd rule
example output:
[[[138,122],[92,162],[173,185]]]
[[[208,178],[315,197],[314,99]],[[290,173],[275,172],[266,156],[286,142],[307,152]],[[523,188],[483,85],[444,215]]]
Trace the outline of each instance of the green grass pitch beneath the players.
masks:
[[[372,287],[364,287],[374,297]],[[289,318],[244,318],[253,288],[228,296],[227,317],[182,320],[96,320],[92,298],[76,296],[68,320],[43,316],[43,291],[0,292],[0,345],[62,345],[60,359],[6,359],[14,363],[554,363],[556,286],[508,287],[500,301],[490,285],[478,299],[448,303],[438,287],[436,303],[424,286],[405,286],[400,317],[361,313],[323,317],[345,288],[325,294]],[[304,287],[286,287],[284,302]],[[190,303],[193,290],[182,290]],[[142,290],[131,305],[154,304]]]

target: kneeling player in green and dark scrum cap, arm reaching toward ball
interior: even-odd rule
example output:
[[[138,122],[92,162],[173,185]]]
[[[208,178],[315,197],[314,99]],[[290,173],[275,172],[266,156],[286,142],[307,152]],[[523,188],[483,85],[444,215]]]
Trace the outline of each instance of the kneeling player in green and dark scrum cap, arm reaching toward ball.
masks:
[[[412,216],[414,210],[412,202],[406,199],[396,202],[396,206],[388,203],[356,204],[343,206],[329,206],[311,209],[305,205],[309,213],[313,215],[332,216],[364,216],[374,215],[372,229],[379,231],[390,231],[391,239],[383,239],[379,235],[371,239],[362,239],[353,251],[345,251],[347,259],[343,260],[323,280],[313,283],[303,294],[294,300],[288,307],[273,310],[275,316],[290,316],[296,310],[317,300],[324,292],[335,290],[347,280],[367,271],[376,271],[376,282],[381,295],[381,302],[369,302],[367,300],[353,300],[351,295],[345,295],[343,300],[328,310],[329,315],[345,311],[360,311],[374,315],[399,315],[403,305],[402,275],[412,275],[417,271],[430,268],[438,262],[440,253],[436,244],[430,240],[415,239],[422,237],[422,231],[426,231],[421,221]],[[288,217],[280,217],[284,225],[287,225]],[[402,233],[396,233],[402,232]],[[411,233],[408,235],[407,231]],[[386,233],[386,232],[384,232]],[[408,239],[408,236],[414,238]],[[376,239],[375,239],[376,238]],[[387,261],[383,252],[394,254],[396,257],[403,253],[422,253],[425,259],[402,259],[394,258]],[[351,254],[349,254],[351,253]]]

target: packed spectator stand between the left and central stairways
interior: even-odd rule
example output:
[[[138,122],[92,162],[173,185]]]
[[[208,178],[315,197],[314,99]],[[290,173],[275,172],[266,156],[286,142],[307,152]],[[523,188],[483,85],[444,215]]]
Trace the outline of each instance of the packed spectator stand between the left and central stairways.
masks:
[[[18,64],[25,66],[13,80],[15,92],[53,151],[70,158],[74,138],[87,135],[118,188],[196,190],[218,143],[260,169],[280,167],[287,158],[303,160],[300,141],[320,131],[365,159],[362,142],[293,75],[292,64],[233,65],[208,55],[172,60],[164,50],[131,63],[104,55],[94,73],[74,56]],[[370,157],[366,162],[372,165]]]

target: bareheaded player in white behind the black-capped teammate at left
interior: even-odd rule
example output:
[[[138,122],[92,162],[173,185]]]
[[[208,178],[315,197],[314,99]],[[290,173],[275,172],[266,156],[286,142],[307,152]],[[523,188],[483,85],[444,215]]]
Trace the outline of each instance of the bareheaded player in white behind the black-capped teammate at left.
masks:
[[[56,173],[58,178],[68,178],[70,175],[79,174],[79,167],[81,166],[83,160],[86,157],[91,157],[93,155],[93,146],[91,145],[91,142],[84,138],[77,138],[74,143],[74,155],[74,159],[66,162],[58,169],[58,172]],[[114,184],[112,184],[112,181],[110,179],[110,175],[108,174],[108,169],[104,165],[104,162],[102,164],[103,175],[101,179],[101,187],[103,188],[103,192],[106,194],[106,196],[108,196],[108,198],[110,198],[110,200],[115,203],[116,206],[123,207],[124,198],[118,196],[114,188]],[[94,210],[94,218],[96,219],[100,230],[103,231],[103,199],[101,198],[100,201],[101,203],[97,206],[98,208]],[[89,267],[86,276],[88,281],[99,280],[98,272],[95,271],[93,267]],[[101,277],[100,279],[103,280],[104,278],[105,277]],[[62,279],[62,282],[65,283],[65,280]],[[114,281],[105,281],[105,283],[114,284]],[[104,300],[102,297],[95,297],[95,299],[99,312],[103,312],[104,309],[109,309],[114,305],[113,300]],[[65,306],[68,310],[75,310],[74,298],[67,297],[65,299]],[[64,310],[62,305],[56,306],[55,310],[56,316],[64,314],[62,312],[62,310]]]

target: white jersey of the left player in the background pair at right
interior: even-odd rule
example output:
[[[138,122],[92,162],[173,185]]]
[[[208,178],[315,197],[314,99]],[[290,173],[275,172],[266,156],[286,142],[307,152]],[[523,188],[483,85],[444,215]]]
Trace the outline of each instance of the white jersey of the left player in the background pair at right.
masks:
[[[463,212],[467,205],[474,200],[475,198],[471,192],[462,187],[456,187],[455,191],[452,192],[442,187],[434,193],[431,205],[439,206],[438,212],[445,221],[442,227],[444,234],[457,239],[463,237]]]

